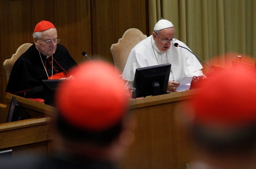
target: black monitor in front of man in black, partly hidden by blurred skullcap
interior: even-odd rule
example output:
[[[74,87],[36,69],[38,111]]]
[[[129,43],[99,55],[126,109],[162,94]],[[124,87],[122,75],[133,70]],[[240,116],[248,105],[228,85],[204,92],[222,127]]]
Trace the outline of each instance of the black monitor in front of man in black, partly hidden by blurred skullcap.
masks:
[[[43,82],[43,95],[44,95],[44,104],[48,104],[50,106],[55,106],[54,104],[54,94],[58,88],[59,83],[62,80],[42,80]]]

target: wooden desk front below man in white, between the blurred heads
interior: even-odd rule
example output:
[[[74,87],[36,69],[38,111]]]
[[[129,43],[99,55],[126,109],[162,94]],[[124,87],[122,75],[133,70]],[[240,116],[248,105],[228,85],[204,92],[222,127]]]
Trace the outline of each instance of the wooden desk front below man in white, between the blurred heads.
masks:
[[[178,118],[186,100],[197,90],[131,100],[131,113],[138,124],[124,168],[185,168],[193,156],[193,145]]]

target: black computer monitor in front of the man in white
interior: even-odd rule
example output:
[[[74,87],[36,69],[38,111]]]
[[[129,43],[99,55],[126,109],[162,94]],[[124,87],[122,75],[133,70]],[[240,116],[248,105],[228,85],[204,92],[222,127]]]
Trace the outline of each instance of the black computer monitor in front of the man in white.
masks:
[[[170,70],[170,63],[137,68],[133,82],[136,96],[132,96],[132,98],[167,93]]]

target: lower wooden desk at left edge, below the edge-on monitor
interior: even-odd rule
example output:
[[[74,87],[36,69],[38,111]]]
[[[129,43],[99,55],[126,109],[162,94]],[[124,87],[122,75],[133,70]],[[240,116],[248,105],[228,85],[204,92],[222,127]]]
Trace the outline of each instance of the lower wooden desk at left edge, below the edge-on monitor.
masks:
[[[0,124],[0,151],[12,150],[13,157],[24,153],[47,155],[52,140],[50,117]]]

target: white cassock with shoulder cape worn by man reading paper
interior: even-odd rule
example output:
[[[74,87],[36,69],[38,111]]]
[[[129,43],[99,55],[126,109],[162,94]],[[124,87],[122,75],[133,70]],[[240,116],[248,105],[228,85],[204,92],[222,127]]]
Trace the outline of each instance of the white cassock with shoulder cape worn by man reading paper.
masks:
[[[171,63],[170,81],[179,82],[183,77],[204,75],[197,58],[187,49],[175,47],[174,43],[187,47],[182,41],[171,41],[170,48],[163,53],[157,49],[152,35],[139,42],[129,54],[122,78],[133,82],[136,68],[164,63]]]

